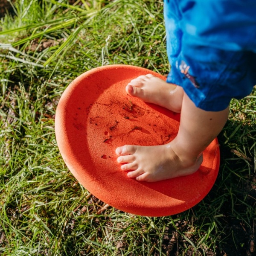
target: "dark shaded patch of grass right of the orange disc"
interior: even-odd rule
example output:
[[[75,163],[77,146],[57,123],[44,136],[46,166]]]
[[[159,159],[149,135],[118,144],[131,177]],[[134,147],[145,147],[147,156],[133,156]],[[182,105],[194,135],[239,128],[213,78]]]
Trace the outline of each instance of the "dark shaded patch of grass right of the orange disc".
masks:
[[[218,136],[221,166],[204,199],[222,233],[217,255],[256,255],[255,135],[255,124],[229,120]]]

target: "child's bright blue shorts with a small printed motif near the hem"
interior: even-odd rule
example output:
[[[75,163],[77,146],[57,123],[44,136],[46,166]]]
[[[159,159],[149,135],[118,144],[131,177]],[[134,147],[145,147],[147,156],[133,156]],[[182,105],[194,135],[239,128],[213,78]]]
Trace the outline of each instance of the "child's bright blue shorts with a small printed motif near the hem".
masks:
[[[167,82],[221,111],[256,84],[256,0],[165,0]]]

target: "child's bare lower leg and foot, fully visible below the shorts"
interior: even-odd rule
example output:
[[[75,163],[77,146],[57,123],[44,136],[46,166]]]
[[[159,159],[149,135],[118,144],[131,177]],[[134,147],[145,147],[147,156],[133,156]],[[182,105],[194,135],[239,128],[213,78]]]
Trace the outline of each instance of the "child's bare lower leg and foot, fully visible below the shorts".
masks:
[[[158,181],[185,176],[197,171],[201,153],[224,127],[229,108],[210,112],[197,108],[184,93],[177,137],[166,145],[124,145],[116,148],[121,169],[128,177]]]

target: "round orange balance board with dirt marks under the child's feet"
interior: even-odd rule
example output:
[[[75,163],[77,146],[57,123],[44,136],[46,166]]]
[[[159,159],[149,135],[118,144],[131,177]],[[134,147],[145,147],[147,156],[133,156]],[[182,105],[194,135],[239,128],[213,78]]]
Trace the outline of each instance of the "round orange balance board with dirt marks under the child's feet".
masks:
[[[166,79],[129,65],[97,67],[76,78],[58,103],[56,139],[67,167],[100,200],[137,215],[172,215],[193,207],[212,188],[220,163],[218,141],[204,151],[192,175],[154,183],[127,177],[116,161],[118,146],[169,143],[179,128],[180,114],[125,92],[131,79],[148,73]]]

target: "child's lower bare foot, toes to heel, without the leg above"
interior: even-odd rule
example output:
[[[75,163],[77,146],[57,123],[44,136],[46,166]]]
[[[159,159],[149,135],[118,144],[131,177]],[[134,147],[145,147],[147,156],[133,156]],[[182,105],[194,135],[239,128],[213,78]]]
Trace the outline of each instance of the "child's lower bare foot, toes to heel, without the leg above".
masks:
[[[159,181],[186,176],[196,172],[202,161],[198,159],[181,159],[172,149],[172,142],[157,146],[124,145],[116,148],[118,163],[127,176],[139,181]]]

